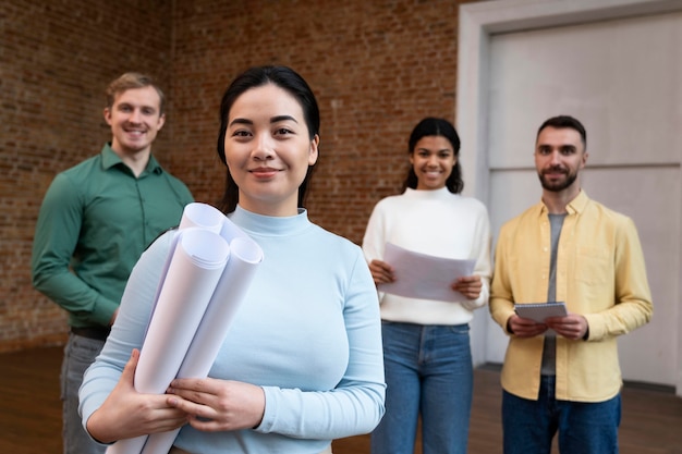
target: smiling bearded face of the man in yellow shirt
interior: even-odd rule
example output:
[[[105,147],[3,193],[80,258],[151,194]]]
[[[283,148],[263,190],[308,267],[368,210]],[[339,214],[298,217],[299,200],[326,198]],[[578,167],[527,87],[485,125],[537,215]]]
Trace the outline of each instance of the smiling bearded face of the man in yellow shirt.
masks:
[[[585,167],[587,152],[577,131],[548,126],[535,144],[535,168],[546,193],[569,198],[580,192],[577,175]]]

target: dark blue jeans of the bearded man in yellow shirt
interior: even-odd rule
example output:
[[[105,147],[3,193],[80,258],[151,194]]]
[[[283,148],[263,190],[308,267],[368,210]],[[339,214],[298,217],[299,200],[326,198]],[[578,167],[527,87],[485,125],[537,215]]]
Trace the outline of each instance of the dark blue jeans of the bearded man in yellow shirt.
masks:
[[[549,454],[559,432],[563,454],[618,454],[620,394],[606,402],[558,401],[555,377],[541,377],[537,401],[503,391],[504,454]]]

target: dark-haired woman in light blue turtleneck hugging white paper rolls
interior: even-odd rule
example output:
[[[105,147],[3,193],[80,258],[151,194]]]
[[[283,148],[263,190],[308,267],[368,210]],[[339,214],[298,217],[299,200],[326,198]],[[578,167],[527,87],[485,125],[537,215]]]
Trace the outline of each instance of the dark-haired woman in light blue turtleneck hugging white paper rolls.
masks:
[[[254,68],[226,91],[220,119],[221,208],[265,257],[247,299],[208,379],[176,379],[166,395],[136,393],[137,348],[174,233],[160,237],[130,285],[153,284],[126,292],[135,295],[121,305],[127,324],[114,326],[86,372],[84,425],[109,443],[188,421],[172,453],[330,453],[332,439],[375,428],[386,385],[377,294],[362,250],[301,208],[318,157],[317,102],[294,71]]]

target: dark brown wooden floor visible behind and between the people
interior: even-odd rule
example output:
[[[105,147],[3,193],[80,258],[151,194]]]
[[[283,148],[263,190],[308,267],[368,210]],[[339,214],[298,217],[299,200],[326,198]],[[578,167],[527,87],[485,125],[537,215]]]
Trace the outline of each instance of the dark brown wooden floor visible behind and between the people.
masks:
[[[0,354],[0,453],[61,453],[61,347]],[[499,372],[477,369],[470,454],[502,452],[500,398]],[[621,454],[682,454],[682,398],[666,390],[625,385],[620,444]],[[333,452],[369,453],[369,437],[336,440]],[[415,453],[422,453],[418,446]]]

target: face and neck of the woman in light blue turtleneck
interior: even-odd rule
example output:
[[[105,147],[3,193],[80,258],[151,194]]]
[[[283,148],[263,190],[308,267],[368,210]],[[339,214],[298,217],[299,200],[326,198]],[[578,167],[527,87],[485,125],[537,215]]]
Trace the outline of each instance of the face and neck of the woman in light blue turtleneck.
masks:
[[[297,213],[299,186],[317,161],[296,98],[273,84],[244,91],[228,115],[224,154],[239,204],[259,214]]]

